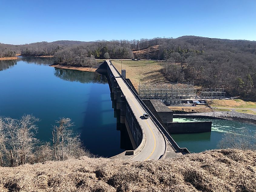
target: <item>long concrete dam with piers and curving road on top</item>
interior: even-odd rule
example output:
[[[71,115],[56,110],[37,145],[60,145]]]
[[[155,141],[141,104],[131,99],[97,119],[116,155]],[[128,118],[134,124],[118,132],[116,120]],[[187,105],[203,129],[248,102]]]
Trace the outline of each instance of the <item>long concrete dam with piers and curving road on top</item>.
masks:
[[[118,72],[110,60],[106,60],[97,69],[104,72],[115,100],[116,109],[120,110],[120,122],[125,124],[133,150],[124,151],[111,158],[145,161],[187,154],[187,148],[180,148],[171,135],[162,126],[154,114],[139,98],[128,81]],[[144,119],[147,113],[150,118]]]

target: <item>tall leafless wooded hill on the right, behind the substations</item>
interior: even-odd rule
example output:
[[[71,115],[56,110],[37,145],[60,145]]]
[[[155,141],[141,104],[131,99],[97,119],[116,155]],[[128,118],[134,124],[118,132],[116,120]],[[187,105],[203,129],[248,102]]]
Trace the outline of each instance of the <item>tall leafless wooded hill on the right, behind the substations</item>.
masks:
[[[145,41],[145,48],[149,42],[159,45],[155,56],[166,60],[162,73],[170,81],[194,81],[256,98],[256,41],[183,36]]]

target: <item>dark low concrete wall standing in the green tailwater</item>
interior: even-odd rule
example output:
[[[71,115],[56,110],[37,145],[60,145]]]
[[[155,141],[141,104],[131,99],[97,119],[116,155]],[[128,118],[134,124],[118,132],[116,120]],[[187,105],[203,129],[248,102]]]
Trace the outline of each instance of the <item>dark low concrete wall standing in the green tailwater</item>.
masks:
[[[211,121],[165,123],[170,134],[201,133],[211,131]]]

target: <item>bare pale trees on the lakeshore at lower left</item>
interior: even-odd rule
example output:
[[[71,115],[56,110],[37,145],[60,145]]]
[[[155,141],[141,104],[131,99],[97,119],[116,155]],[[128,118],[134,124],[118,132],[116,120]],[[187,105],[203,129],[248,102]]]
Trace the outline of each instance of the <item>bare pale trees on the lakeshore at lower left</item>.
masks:
[[[36,137],[39,121],[33,115],[20,119],[0,117],[0,166],[64,161],[90,156],[75,134],[70,118],[60,118],[52,128],[51,142],[42,143]]]

